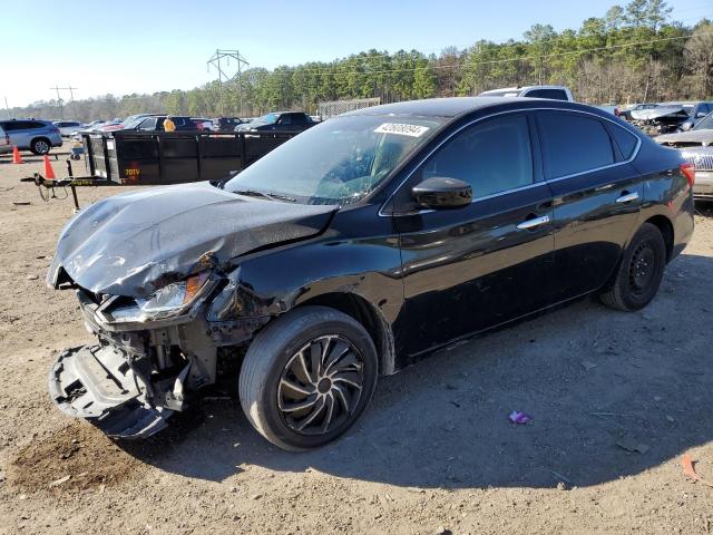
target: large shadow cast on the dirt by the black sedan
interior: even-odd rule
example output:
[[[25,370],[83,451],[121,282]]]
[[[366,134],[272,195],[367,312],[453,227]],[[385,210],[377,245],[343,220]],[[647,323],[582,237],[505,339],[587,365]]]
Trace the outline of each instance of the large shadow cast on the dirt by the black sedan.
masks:
[[[587,486],[713,439],[713,259],[683,255],[636,313],[594,300],[441,351],[382,378],[345,437],[291,454],[235,399],[207,399],[121,444],[162,470],[222,481],[251,465],[418,487]],[[514,411],[528,425],[508,420]]]

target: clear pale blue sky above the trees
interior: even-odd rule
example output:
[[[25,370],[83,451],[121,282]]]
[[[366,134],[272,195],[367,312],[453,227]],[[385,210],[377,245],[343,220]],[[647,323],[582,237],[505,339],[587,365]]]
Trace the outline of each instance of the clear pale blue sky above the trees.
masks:
[[[0,10],[0,106],[25,106],[77,87],[75,98],[189,89],[216,77],[216,48],[240,49],[251,66],[332,60],[375,48],[438,54],[478,39],[519,39],[531,25],[578,28],[615,0],[217,1],[33,0]],[[626,3],[626,1],[618,2]],[[711,0],[670,0],[686,25],[713,18]],[[68,98],[68,94],[64,98]]]

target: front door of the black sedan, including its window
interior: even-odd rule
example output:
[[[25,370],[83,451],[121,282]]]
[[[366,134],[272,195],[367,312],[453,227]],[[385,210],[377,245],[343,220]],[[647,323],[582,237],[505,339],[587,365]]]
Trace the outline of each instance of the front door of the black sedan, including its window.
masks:
[[[551,195],[526,114],[478,121],[446,142],[394,196],[410,353],[548,303],[554,276]],[[472,186],[457,210],[409,211],[420,181]]]

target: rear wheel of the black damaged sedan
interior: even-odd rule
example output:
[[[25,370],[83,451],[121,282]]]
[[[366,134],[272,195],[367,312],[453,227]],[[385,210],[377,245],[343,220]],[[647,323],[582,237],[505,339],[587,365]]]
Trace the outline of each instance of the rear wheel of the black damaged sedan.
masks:
[[[602,302],[616,310],[635,311],[656,295],[666,265],[666,244],[661,231],[644,223],[624,251],[622,263]]]

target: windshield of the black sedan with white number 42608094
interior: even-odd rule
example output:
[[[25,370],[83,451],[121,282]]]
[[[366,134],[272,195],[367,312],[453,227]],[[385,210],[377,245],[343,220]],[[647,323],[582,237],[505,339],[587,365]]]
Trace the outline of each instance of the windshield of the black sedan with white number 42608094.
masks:
[[[442,119],[335,117],[303,132],[237,174],[225,189],[304,204],[355,203],[374,189]]]

